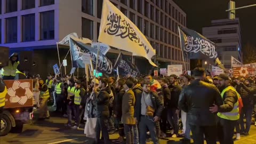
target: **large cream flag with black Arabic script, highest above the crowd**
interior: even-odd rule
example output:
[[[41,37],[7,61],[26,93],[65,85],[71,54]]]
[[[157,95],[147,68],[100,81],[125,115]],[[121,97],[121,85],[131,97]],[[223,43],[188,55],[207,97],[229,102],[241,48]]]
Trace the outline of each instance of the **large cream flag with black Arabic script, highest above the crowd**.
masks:
[[[151,60],[156,51],[147,38],[109,0],[103,1],[98,41],[144,57],[151,65],[157,67]]]

